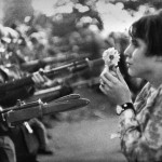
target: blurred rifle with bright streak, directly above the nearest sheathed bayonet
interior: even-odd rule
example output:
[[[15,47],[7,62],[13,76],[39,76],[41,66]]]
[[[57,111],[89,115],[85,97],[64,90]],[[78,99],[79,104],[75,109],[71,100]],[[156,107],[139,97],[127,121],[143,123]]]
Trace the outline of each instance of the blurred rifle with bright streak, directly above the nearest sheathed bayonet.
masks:
[[[71,81],[72,77],[63,79],[59,85],[49,87],[45,90],[36,91],[32,96],[28,97],[25,100],[33,102],[40,98],[42,102],[51,102],[73,93],[75,89],[94,87],[94,86],[98,87],[99,85],[98,77],[86,79],[86,80],[75,81],[75,82]]]

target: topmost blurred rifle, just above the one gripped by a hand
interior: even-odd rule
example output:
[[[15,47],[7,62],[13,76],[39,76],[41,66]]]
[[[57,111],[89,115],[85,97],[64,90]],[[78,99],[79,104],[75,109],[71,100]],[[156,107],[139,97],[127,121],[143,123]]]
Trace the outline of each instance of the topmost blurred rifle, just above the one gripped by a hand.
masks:
[[[35,59],[27,63],[19,64],[19,67],[24,71],[28,72],[35,72],[38,71],[40,68],[44,68],[46,65],[56,64],[56,63],[64,63],[64,62],[70,62],[76,59],[82,59],[89,57],[90,54],[80,54],[78,56],[77,54],[70,54],[70,55],[64,55],[59,57],[45,57],[41,59]]]

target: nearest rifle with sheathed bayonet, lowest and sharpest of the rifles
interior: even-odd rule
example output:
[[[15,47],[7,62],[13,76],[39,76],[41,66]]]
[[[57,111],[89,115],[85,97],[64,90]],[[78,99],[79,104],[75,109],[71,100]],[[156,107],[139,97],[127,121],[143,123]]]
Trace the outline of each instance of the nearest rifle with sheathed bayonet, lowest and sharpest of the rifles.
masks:
[[[87,106],[89,103],[89,99],[81,98],[79,94],[70,94],[50,103],[43,103],[38,99],[26,104],[19,100],[14,107],[1,109],[0,117],[1,121],[11,126],[32,118],[79,109]]]

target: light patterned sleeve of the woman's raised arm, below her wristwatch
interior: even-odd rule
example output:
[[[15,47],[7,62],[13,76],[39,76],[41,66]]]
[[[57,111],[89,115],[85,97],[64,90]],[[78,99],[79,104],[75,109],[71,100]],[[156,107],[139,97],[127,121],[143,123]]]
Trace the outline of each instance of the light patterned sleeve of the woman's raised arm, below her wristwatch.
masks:
[[[120,119],[121,149],[130,162],[162,161],[162,93],[137,117]]]

